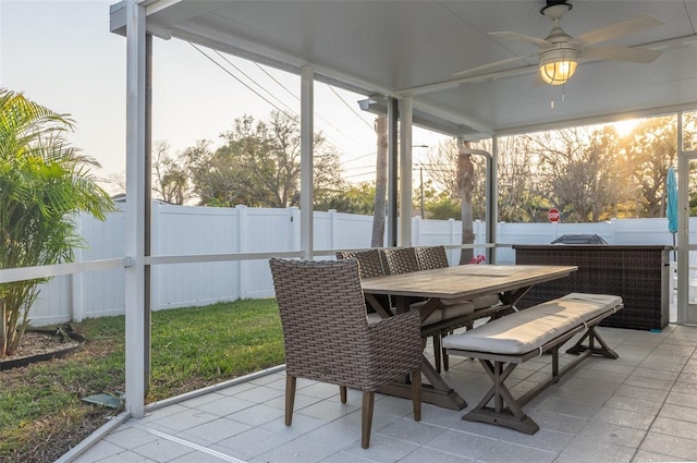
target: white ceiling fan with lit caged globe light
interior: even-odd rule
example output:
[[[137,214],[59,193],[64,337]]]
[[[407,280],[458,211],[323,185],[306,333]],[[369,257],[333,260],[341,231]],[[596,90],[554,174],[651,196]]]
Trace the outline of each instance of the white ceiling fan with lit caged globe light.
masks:
[[[663,24],[659,19],[644,15],[632,20],[621,21],[608,26],[599,27],[572,37],[560,27],[560,20],[573,5],[565,0],[547,0],[547,5],[540,13],[554,22],[554,27],[546,38],[533,37],[515,32],[492,32],[489,35],[506,39],[524,41],[538,46],[538,52],[523,57],[510,58],[481,66],[473,68],[455,74],[464,76],[474,74],[504,63],[525,60],[535,56],[539,59],[540,77],[550,85],[564,84],[576,71],[579,61],[628,61],[635,63],[650,63],[661,56],[661,51],[646,48],[629,48],[616,46],[592,46],[627,34],[633,34],[649,27]]]

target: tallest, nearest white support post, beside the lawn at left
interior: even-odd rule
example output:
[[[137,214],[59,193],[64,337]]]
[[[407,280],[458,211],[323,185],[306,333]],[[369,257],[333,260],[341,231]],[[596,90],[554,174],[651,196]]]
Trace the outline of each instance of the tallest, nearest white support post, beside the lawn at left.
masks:
[[[126,411],[145,414],[145,134],[146,29],[145,7],[131,0],[126,8]]]

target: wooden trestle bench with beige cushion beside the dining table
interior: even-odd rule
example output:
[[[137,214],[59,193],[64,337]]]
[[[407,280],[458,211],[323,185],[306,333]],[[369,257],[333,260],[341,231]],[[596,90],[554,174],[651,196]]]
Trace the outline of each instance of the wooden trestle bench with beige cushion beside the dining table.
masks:
[[[479,360],[493,382],[463,419],[506,426],[530,435],[537,432],[538,425],[523,412],[523,405],[590,355],[617,358],[596,327],[622,307],[620,296],[571,293],[443,338],[449,355]],[[566,351],[579,357],[560,369],[559,349],[579,332],[584,332],[582,338]],[[552,355],[551,377],[515,399],[504,383],[506,378],[517,365],[545,353]]]

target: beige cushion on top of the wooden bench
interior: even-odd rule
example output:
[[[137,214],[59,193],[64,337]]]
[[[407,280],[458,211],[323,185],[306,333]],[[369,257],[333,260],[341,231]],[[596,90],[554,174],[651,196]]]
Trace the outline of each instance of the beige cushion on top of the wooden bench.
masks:
[[[443,348],[524,354],[621,304],[619,296],[571,293],[489,321],[463,334],[448,336],[443,339]]]

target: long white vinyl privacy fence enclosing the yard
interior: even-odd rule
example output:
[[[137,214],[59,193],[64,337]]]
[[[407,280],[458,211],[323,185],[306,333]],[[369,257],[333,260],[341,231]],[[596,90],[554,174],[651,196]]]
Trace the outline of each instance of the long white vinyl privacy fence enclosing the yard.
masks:
[[[76,260],[125,255],[123,212],[106,222],[81,216],[80,229],[87,247]],[[461,222],[413,219],[413,245],[460,244]],[[485,223],[475,223],[476,243],[484,243]],[[690,227],[697,230],[697,222]],[[372,217],[335,211],[315,212],[315,249],[370,247]],[[667,219],[611,220],[599,223],[499,223],[501,244],[545,244],[568,233],[595,233],[610,244],[672,244]],[[692,236],[697,241],[697,235]],[[299,210],[239,206],[209,208],[152,204],[154,256],[299,251]],[[449,251],[451,264],[458,249]],[[498,263],[512,264],[515,252],[498,248]],[[475,254],[485,254],[476,248]],[[330,258],[330,257],[323,257]],[[200,306],[219,301],[273,295],[266,259],[152,267],[152,307]],[[124,313],[124,271],[100,270],[57,277],[45,284],[30,310],[32,324],[45,326],[86,317]]]

